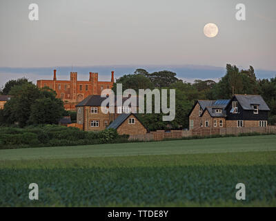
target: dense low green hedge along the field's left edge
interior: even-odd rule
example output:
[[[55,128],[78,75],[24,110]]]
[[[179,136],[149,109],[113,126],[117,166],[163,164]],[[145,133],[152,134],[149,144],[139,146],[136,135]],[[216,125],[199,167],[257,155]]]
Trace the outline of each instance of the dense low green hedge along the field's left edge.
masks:
[[[75,146],[128,142],[128,135],[118,135],[114,129],[99,132],[80,131],[78,128],[41,125],[26,128],[0,127],[0,148],[39,146]]]

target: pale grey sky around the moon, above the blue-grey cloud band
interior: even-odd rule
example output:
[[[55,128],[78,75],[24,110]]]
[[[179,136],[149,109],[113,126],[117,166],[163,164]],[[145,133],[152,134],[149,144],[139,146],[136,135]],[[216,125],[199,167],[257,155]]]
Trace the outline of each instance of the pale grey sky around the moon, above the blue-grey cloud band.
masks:
[[[30,3],[38,4],[39,21],[28,19]],[[246,21],[235,18],[237,3],[245,4]],[[275,0],[1,0],[0,68],[235,64],[274,71],[275,10]],[[209,22],[217,37],[204,35]]]

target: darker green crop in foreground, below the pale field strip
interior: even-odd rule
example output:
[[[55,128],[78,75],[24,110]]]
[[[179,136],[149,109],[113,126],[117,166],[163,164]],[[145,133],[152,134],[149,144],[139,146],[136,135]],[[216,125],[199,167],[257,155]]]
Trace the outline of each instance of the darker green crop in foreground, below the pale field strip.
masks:
[[[2,162],[0,206],[182,206],[275,202],[275,152]],[[85,161],[85,162],[84,162]],[[39,200],[28,199],[28,184]]]

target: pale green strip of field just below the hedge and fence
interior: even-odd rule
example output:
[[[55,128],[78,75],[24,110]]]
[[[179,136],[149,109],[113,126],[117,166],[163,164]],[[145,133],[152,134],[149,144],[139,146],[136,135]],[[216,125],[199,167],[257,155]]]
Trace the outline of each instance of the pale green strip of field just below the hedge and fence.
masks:
[[[276,151],[276,135],[0,150],[0,160]]]

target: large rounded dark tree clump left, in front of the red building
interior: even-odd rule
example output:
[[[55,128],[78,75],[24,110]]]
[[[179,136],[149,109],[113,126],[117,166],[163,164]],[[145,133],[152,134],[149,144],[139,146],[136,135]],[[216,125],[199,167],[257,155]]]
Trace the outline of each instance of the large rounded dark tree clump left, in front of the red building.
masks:
[[[30,82],[13,86],[12,98],[3,110],[4,123],[18,122],[23,127],[27,124],[56,124],[65,113],[63,102],[57,99],[50,88],[39,89]]]

